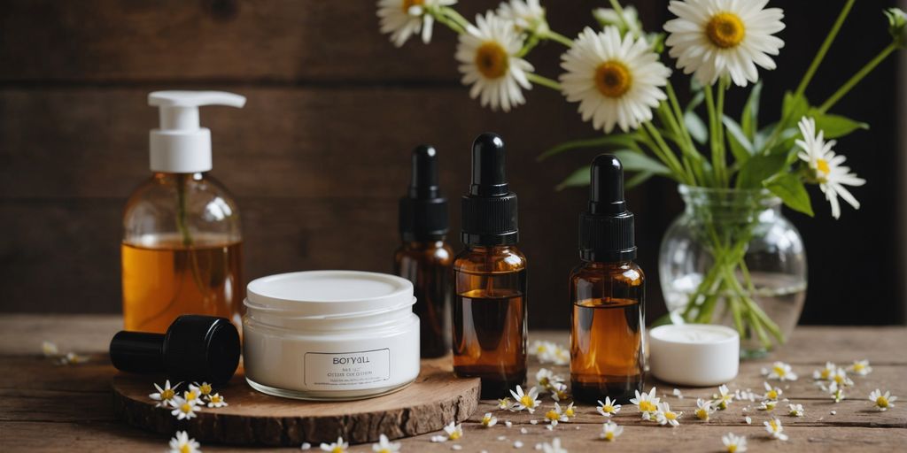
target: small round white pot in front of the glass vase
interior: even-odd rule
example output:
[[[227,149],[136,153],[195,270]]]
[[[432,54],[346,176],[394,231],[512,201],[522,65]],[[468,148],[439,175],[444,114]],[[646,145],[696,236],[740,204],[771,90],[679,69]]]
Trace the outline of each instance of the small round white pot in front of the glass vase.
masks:
[[[736,378],[740,335],[713,324],[659,325],[649,331],[649,369],[661,381],[708,387]]]

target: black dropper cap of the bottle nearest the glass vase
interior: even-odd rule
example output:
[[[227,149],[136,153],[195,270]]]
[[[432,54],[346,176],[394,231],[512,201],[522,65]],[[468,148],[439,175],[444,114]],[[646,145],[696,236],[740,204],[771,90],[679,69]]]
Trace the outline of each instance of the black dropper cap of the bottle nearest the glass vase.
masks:
[[[623,166],[610,154],[592,160],[589,210],[580,214],[580,259],[600,263],[636,258],[633,213],[623,196]]]

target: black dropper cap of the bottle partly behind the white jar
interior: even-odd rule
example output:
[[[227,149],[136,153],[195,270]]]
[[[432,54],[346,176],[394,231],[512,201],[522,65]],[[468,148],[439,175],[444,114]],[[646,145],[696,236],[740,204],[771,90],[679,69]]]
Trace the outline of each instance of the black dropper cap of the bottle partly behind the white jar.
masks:
[[[404,241],[440,240],[448,231],[447,198],[438,185],[438,152],[429,145],[413,149],[413,176],[400,198],[400,236]]]

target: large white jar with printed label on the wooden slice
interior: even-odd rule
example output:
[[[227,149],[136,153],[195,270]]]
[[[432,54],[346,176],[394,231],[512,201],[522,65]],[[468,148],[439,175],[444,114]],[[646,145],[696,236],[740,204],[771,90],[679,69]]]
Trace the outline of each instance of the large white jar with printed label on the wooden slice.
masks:
[[[419,374],[413,284],[395,275],[308,271],[249,283],[242,318],[246,381],[300,400],[360,400]]]

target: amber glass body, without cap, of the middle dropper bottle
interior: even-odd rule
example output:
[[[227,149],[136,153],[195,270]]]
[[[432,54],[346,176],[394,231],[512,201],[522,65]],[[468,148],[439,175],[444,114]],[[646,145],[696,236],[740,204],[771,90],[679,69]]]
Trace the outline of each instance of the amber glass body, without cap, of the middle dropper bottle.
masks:
[[[526,258],[473,246],[453,263],[453,372],[482,379],[482,398],[526,383]]]

